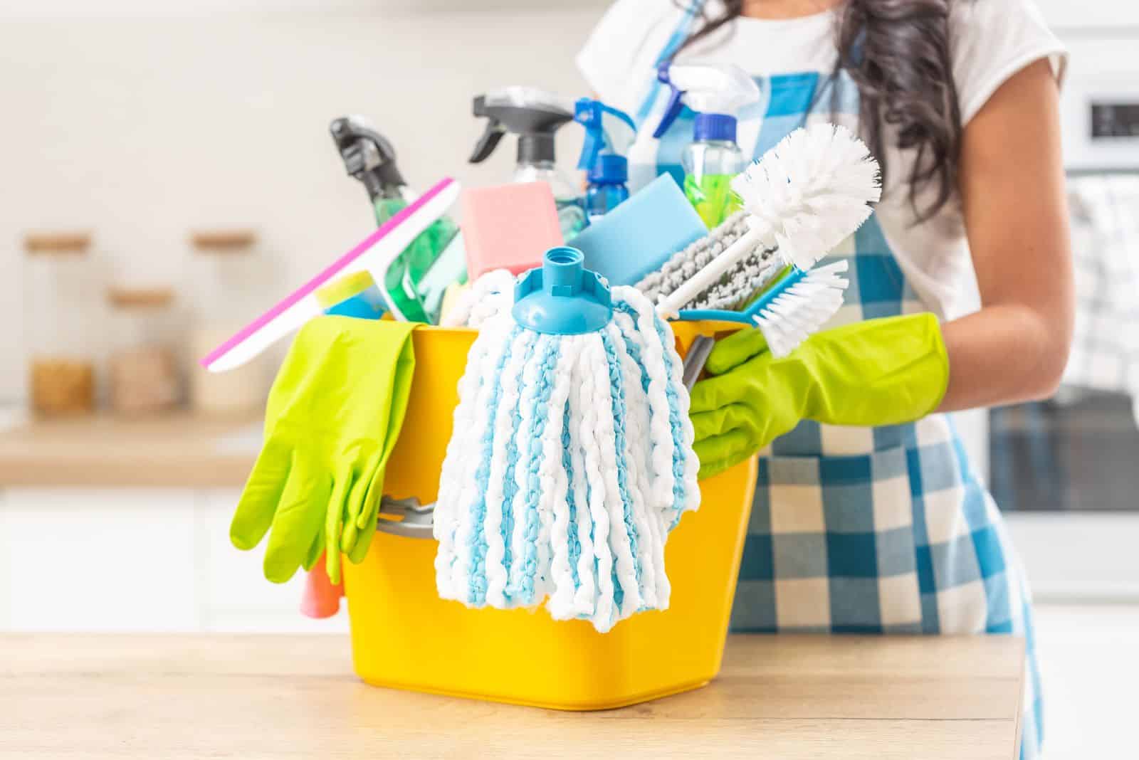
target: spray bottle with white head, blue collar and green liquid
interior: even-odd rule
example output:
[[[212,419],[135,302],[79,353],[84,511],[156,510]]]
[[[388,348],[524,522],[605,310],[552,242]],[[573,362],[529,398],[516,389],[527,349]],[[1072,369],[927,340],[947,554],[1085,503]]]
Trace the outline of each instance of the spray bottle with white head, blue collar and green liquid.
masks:
[[[663,63],[657,79],[672,89],[672,96],[653,137],[669,130],[682,105],[696,111],[693,141],[681,156],[685,195],[711,230],[740,207],[729,185],[747,165],[736,144],[736,114],[759,100],[760,88],[731,64]]]

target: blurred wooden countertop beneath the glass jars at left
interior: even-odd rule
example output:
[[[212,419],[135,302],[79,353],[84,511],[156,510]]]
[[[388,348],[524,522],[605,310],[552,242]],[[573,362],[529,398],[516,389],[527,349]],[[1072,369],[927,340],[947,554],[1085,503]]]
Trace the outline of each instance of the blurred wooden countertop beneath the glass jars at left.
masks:
[[[35,420],[0,430],[0,488],[240,488],[260,447],[256,424],[188,413]]]

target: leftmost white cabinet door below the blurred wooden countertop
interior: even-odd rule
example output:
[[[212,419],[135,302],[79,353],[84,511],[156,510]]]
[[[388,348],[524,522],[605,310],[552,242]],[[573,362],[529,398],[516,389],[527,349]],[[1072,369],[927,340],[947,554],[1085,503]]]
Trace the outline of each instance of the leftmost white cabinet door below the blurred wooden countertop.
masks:
[[[0,593],[15,630],[192,630],[194,495],[11,488],[0,503]]]

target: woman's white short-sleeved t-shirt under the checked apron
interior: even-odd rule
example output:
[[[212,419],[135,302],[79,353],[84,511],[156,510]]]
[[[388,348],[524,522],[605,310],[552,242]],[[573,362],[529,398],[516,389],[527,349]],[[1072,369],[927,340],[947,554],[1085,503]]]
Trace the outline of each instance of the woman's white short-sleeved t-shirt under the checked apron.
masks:
[[[650,133],[659,122],[666,92],[653,84],[656,63],[670,39],[699,28],[702,23],[681,5],[673,0],[617,0],[577,55],[579,68],[601,100],[641,119],[637,144],[630,151],[631,184],[636,184],[632,167],[638,156],[652,157],[657,150]],[[708,8],[710,13],[716,10]],[[821,81],[833,73],[837,58],[836,13],[786,20],[737,18],[683,50],[678,60],[732,63],[769,81],[804,73],[817,73]],[[1048,30],[1033,0],[957,0],[950,16],[950,48],[962,124],[1027,65],[1049,58],[1059,80],[1066,63],[1063,44]],[[849,77],[845,84],[854,92]],[[838,99],[843,97],[839,91]],[[839,110],[845,113],[825,114],[826,121],[857,129],[857,106]],[[756,113],[752,115],[755,118],[741,113],[739,118],[737,142],[745,152],[749,146],[762,144],[762,139],[757,143],[762,119]],[[886,242],[924,308],[943,320],[976,311],[976,274],[959,204],[951,201],[936,216],[915,224],[904,182],[912,155],[899,152],[893,144],[887,133],[887,184],[876,212]],[[933,188],[926,192],[932,193]],[[918,204],[923,206],[921,196]]]

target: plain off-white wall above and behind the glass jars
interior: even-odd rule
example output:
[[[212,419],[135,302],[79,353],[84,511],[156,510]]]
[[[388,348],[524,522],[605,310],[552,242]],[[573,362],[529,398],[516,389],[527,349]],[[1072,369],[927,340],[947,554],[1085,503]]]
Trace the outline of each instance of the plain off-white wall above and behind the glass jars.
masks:
[[[313,9],[328,5],[338,10]],[[482,129],[472,96],[515,83],[581,94],[572,58],[604,3],[408,10],[417,5],[244,0],[236,13],[212,0],[173,10],[120,0],[97,17],[79,17],[93,11],[74,0],[0,8],[0,402],[23,394],[26,230],[90,228],[114,271],[178,283],[188,230],[255,226],[298,284],[374,228],[327,131],[353,111],[392,139],[412,184],[505,181],[506,142],[487,164],[466,163]],[[149,17],[136,13],[144,6]],[[211,13],[180,10],[190,7]],[[580,135],[563,132],[572,162]],[[248,316],[281,295],[251,292]]]

